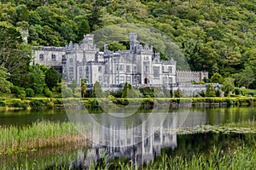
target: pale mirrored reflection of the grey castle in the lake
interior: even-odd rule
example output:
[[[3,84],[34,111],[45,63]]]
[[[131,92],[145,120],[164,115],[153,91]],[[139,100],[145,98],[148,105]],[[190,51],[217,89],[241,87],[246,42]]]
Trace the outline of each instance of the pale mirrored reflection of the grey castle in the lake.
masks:
[[[103,155],[107,155],[110,159],[125,157],[137,165],[143,165],[153,161],[154,156],[160,156],[162,148],[177,147],[177,134],[174,129],[193,127],[207,122],[202,112],[137,114],[131,120],[134,122],[141,120],[138,121],[141,124],[135,123],[136,126],[132,126],[131,121],[129,127],[123,119],[112,117],[113,121],[108,124],[108,117],[102,114],[99,117],[95,119],[103,126],[95,126],[95,122],[91,123],[90,134],[86,136],[91,139],[92,147],[84,153],[85,167],[93,162],[96,163]]]

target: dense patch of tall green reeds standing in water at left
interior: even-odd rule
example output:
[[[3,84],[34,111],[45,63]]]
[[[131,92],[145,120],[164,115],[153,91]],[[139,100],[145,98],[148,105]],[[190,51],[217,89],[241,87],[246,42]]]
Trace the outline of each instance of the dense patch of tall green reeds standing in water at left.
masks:
[[[27,127],[0,127],[0,154],[15,155],[78,142],[86,140],[72,122],[34,122]]]

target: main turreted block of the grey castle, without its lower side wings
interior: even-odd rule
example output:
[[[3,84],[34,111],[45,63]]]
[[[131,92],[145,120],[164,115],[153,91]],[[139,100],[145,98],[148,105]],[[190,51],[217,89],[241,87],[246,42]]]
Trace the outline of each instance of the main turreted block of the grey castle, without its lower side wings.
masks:
[[[89,84],[171,84],[176,81],[176,61],[161,60],[153,47],[137,42],[137,34],[130,33],[130,49],[112,52],[108,45],[100,52],[93,44],[93,36],[86,35],[81,44],[72,42],[66,47],[67,59],[63,76],[67,82],[80,82],[86,78]]]

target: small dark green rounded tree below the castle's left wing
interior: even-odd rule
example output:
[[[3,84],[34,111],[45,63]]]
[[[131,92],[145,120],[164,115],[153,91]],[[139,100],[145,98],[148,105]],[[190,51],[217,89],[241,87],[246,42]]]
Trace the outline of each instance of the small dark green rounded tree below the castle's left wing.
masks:
[[[57,83],[59,82],[59,79],[60,79],[60,75],[58,71],[55,71],[53,67],[49,68],[45,72],[45,83],[47,84],[50,90],[57,85]]]

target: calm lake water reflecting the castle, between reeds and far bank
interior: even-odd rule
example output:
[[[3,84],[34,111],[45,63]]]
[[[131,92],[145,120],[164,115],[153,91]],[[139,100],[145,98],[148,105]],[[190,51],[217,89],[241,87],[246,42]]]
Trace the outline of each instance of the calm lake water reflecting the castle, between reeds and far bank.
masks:
[[[110,160],[125,160],[143,165],[154,161],[163,150],[168,155],[189,155],[195,151],[206,151],[212,145],[241,144],[248,142],[248,134],[197,133],[178,135],[173,128],[218,125],[230,122],[254,121],[256,108],[198,108],[182,109],[171,113],[154,112],[124,114],[81,114],[79,111],[38,110],[0,111],[1,126],[29,126],[32,122],[49,120],[54,122],[84,122],[90,125],[90,133],[84,133],[92,144],[88,146],[65,146],[38,150],[21,156],[0,156],[1,169],[51,169],[56,165],[90,166],[108,155]],[[79,128],[79,127],[78,127]],[[253,136],[253,138],[255,135]]]

